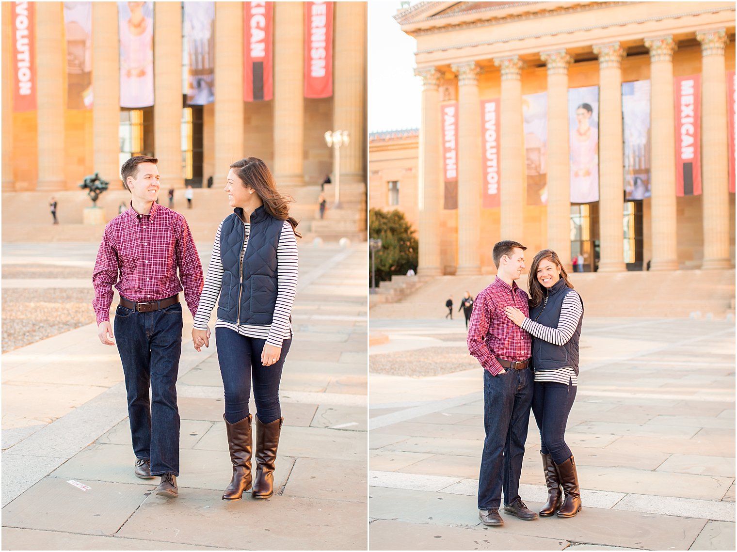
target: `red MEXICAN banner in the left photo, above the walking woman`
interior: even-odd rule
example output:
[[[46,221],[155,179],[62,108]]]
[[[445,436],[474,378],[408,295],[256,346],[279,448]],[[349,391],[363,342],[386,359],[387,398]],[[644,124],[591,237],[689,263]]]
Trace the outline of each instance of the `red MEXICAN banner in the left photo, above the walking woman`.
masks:
[[[243,3],[243,100],[273,98],[273,2]]]

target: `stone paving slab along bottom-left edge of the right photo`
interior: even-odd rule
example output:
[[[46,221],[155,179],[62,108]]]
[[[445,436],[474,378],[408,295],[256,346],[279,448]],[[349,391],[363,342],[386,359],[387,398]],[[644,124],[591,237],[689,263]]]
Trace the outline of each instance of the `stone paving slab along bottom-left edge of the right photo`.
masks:
[[[509,534],[494,528],[483,532],[460,527],[388,523],[368,526],[371,550],[563,550],[567,541]]]

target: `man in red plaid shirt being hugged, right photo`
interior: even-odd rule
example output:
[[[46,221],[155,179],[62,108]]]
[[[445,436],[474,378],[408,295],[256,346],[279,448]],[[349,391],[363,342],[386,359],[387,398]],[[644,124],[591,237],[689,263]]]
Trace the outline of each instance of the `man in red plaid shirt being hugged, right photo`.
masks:
[[[468,331],[469,352],[483,371],[483,441],[478,478],[478,517],[484,525],[503,525],[499,514],[502,489],[504,511],[520,520],[535,520],[520,499],[520,475],[525,455],[534,375],[528,368],[530,335],[504,314],[517,307],[528,315],[528,296],[517,286],[525,268],[525,246],[505,240],[494,245],[497,276],[476,296]]]

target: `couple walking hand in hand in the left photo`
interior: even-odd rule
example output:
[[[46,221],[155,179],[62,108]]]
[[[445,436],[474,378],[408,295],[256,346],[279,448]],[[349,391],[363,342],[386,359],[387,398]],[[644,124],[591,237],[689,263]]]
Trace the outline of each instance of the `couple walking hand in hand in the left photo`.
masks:
[[[297,286],[296,220],[265,163],[249,157],[231,164],[225,191],[234,208],[217,228],[207,277],[186,220],[158,205],[158,159],[134,156],[121,176],[130,207],[105,226],[92,281],[98,337],[117,345],[128,395],[134,473],[161,476],[156,494],[178,496],[179,428],[176,380],[182,343],[179,292],[195,318],[192,342],[209,346],[208,324],[217,296],[215,334],[225,388],[228,449],[233,475],[223,500],[273,494],[282,413],[279,382],[292,340]],[[177,269],[179,275],[177,276]],[[115,341],[109,312],[112,286],[120,295]],[[256,402],[256,473],[248,399]],[[151,399],[149,399],[149,387]]]

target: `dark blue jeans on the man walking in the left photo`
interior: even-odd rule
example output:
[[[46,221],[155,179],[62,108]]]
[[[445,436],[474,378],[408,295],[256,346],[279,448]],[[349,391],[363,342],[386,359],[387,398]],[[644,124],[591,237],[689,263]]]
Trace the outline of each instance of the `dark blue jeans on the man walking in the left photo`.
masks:
[[[115,338],[125,374],[133,452],[136,458],[150,459],[151,475],[178,476],[176,382],[182,350],[181,303],[153,312],[118,305]]]

